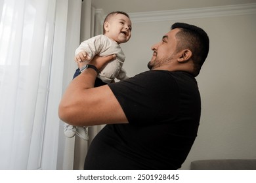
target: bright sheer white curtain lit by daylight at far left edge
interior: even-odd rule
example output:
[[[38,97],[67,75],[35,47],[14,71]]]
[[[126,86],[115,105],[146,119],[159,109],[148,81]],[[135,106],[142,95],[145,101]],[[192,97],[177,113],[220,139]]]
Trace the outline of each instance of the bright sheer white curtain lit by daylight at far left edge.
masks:
[[[0,169],[28,169],[43,143],[33,139],[43,139],[55,1],[5,0],[2,4]]]

